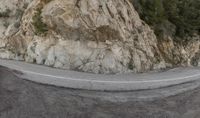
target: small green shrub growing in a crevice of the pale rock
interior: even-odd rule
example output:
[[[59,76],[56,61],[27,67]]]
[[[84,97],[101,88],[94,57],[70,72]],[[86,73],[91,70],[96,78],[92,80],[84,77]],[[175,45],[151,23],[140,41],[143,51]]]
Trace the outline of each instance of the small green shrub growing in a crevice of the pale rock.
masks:
[[[38,8],[37,12],[35,13],[34,17],[33,17],[33,26],[35,28],[35,34],[36,35],[45,35],[46,32],[48,31],[48,27],[47,24],[45,24],[42,21],[42,9]]]

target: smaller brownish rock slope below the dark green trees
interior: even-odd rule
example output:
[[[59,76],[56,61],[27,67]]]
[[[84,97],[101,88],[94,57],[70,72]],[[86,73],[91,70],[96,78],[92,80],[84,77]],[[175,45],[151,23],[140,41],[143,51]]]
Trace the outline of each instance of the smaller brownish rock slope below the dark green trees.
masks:
[[[187,38],[189,41],[186,43],[178,43],[166,35],[158,42],[159,50],[166,63],[172,66],[200,65],[200,36]]]

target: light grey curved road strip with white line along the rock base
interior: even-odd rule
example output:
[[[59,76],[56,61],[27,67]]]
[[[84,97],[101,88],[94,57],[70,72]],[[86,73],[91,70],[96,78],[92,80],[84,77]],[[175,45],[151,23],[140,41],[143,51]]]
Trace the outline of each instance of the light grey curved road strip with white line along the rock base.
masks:
[[[60,70],[19,61],[1,60],[0,65],[20,71],[18,77],[73,89],[133,91],[168,87],[200,80],[200,68],[176,68],[164,72],[103,75]]]

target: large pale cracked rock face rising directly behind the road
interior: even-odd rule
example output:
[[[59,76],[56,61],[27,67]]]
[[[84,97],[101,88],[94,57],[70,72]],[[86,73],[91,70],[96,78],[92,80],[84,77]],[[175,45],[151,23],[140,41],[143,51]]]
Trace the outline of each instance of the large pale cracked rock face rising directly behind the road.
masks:
[[[19,27],[2,30],[1,58],[91,73],[165,68],[154,32],[129,0],[3,1],[29,4]]]

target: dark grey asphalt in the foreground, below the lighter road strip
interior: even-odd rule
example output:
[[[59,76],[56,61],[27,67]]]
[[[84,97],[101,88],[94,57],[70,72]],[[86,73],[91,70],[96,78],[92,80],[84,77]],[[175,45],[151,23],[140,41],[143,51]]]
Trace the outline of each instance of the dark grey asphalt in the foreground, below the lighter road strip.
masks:
[[[164,98],[113,100],[139,93],[148,94],[46,86],[0,67],[0,118],[200,118],[200,87]]]

